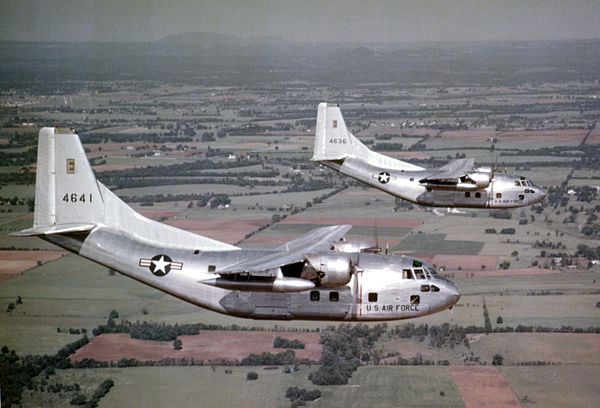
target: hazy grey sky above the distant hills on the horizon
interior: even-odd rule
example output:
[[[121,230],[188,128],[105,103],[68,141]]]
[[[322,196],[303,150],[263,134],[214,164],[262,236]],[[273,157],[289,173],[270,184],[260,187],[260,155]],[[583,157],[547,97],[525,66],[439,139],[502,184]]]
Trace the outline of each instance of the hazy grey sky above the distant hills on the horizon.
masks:
[[[0,40],[152,41],[193,31],[311,42],[600,38],[600,0],[0,0]]]

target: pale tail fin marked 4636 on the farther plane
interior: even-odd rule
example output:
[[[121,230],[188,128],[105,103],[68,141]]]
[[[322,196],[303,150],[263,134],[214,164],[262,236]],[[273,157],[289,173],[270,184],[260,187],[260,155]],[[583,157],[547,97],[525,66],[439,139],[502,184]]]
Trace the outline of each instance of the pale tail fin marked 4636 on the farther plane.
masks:
[[[320,103],[317,113],[313,161],[335,161],[358,158],[373,166],[394,170],[424,170],[370,150],[346,128],[338,105]]]

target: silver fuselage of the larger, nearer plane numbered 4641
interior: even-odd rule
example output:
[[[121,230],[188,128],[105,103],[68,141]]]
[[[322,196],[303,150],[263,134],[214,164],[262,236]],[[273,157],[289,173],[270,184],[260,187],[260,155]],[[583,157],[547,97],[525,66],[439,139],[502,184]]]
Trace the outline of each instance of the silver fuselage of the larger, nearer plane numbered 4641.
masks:
[[[165,248],[106,227],[98,227],[79,238],[52,235],[46,239],[189,303],[244,318],[408,319],[452,307],[460,297],[457,287],[438,277],[431,265],[405,256],[349,254],[357,268],[348,283],[277,293],[230,290],[213,285],[219,275],[212,271],[264,256],[268,250]]]

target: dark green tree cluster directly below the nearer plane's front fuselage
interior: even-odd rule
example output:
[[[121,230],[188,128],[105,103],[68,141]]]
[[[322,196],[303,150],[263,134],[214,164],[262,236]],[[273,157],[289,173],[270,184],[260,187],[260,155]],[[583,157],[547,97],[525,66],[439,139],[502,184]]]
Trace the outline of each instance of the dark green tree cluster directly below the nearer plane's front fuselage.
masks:
[[[329,327],[321,334],[321,365],[308,379],[317,385],[347,384],[360,365],[360,360],[365,360],[365,354],[373,353],[375,342],[386,329],[387,325],[384,324]]]

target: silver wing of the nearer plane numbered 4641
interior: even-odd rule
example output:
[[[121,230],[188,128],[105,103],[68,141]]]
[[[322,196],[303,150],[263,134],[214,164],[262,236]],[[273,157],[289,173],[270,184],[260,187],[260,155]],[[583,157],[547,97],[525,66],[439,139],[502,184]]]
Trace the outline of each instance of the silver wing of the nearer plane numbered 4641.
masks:
[[[317,228],[278,247],[275,252],[238,262],[215,272],[220,275],[249,273],[254,276],[276,277],[278,268],[302,262],[307,254],[329,249],[333,242],[342,238],[351,228],[351,225]]]

